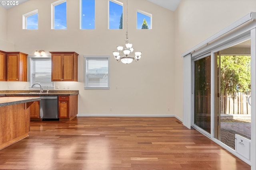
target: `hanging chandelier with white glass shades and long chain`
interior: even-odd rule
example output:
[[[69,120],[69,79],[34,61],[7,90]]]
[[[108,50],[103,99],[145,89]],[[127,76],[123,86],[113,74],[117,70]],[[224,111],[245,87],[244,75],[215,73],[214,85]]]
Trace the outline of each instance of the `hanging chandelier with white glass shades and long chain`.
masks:
[[[132,52],[134,51],[134,48],[132,48],[132,44],[129,42],[128,39],[128,0],[126,0],[126,39],[125,39],[125,48],[123,46],[117,46],[118,51],[114,51],[113,55],[117,62],[122,62],[124,64],[130,64],[132,61],[139,61],[141,58],[142,52],[135,52],[134,56],[131,56]]]

